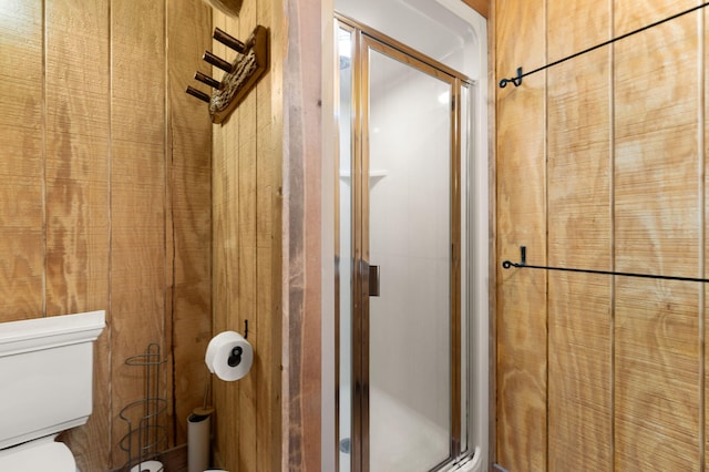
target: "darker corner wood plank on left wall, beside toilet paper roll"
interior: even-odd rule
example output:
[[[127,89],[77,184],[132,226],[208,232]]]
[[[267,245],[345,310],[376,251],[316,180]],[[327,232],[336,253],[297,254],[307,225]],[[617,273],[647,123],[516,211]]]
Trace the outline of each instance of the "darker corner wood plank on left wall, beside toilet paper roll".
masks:
[[[201,2],[171,1],[167,14],[173,396],[175,444],[184,444],[186,419],[210,381],[204,355],[212,338],[212,122],[205,104],[184,90],[196,70],[210,73],[201,58],[212,43],[212,11]]]

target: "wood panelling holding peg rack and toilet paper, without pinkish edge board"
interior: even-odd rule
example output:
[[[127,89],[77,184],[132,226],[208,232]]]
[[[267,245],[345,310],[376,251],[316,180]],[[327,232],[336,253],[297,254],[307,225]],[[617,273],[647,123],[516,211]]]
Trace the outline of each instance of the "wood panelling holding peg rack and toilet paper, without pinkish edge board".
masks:
[[[273,11],[279,2],[245,1],[238,18],[220,12],[214,25],[246,39],[269,29],[270,63],[282,60]],[[214,42],[213,51],[233,61],[235,52]],[[220,78],[222,72],[215,71]],[[216,464],[229,470],[270,471],[280,466],[280,141],[273,137],[270,68],[256,89],[223,124],[215,125],[213,215],[215,249],[214,334],[244,332],[254,347],[254,366],[237,382],[213,379],[216,406]],[[277,336],[274,336],[277,334]]]

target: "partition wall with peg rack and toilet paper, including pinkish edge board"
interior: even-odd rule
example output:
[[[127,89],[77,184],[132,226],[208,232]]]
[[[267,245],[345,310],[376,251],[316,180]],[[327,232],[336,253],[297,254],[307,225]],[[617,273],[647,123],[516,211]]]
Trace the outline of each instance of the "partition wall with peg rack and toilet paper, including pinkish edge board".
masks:
[[[269,30],[270,65],[214,127],[214,331],[244,331],[255,362],[214,380],[216,464],[233,471],[320,468],[319,2],[245,0],[214,25]],[[215,43],[227,60],[234,52]]]

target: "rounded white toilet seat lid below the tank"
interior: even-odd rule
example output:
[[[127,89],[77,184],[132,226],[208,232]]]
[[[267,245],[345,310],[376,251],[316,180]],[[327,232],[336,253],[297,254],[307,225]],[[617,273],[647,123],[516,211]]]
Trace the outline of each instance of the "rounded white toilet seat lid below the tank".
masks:
[[[0,451],[0,471],[75,472],[76,461],[62,442],[27,443]]]

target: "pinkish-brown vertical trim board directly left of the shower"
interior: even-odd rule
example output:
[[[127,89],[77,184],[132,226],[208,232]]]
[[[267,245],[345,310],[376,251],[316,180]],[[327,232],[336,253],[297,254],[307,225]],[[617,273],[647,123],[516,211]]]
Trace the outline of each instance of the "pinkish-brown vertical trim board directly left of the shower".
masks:
[[[321,469],[321,86],[320,4],[289,2],[288,53],[284,78],[288,114],[288,411],[290,470]]]

